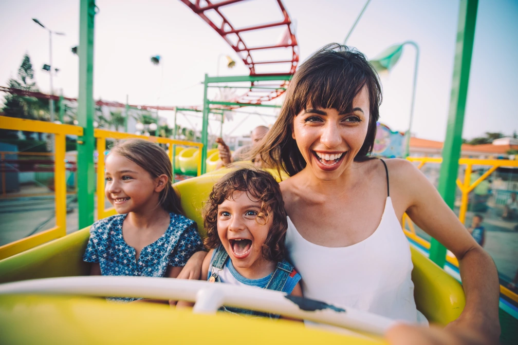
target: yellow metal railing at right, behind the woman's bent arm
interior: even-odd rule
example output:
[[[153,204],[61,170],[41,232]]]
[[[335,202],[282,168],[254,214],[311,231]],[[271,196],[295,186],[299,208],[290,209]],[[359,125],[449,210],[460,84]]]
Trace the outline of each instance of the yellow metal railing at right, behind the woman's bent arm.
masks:
[[[441,157],[408,157],[407,158],[411,162],[419,162],[418,169],[421,169],[426,163],[441,163]],[[512,167],[518,168],[518,160],[507,160],[507,159],[473,159],[473,158],[461,158],[458,160],[459,166],[465,165],[466,169],[464,171],[464,182],[461,182],[460,179],[457,178],[457,187],[462,192],[461,198],[461,207],[459,208],[458,218],[464,224],[466,222],[466,212],[468,211],[468,195],[469,193],[476,188],[487,176],[491,175],[496,169],[499,167]],[[482,174],[476,181],[471,183],[471,172],[473,166],[486,166],[489,168],[484,174]],[[407,230],[406,228],[409,228]],[[426,249],[430,249],[430,243],[425,239],[419,237],[415,233],[414,225],[412,220],[405,213],[402,219],[402,228],[405,235],[408,238],[412,239],[412,241],[420,244]],[[455,256],[447,255],[446,260],[458,267],[458,260]],[[500,292],[511,298],[514,302],[518,302],[518,295],[507,289],[504,286],[500,285]]]

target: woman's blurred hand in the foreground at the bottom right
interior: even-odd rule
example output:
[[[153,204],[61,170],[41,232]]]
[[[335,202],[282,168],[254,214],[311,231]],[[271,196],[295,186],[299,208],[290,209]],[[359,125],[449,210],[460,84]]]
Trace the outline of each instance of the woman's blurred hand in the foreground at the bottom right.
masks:
[[[498,332],[499,333],[499,332]],[[456,322],[445,328],[438,326],[413,326],[400,324],[385,334],[386,340],[394,345],[485,345],[498,344],[498,335],[488,336],[479,329],[468,328]]]

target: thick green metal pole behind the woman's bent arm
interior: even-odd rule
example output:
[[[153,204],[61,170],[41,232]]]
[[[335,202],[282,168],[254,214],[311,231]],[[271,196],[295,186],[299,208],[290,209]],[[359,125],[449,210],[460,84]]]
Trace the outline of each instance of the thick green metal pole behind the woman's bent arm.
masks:
[[[455,202],[458,159],[461,157],[462,127],[468,94],[469,69],[478,0],[461,0],[458,14],[457,44],[453,66],[452,92],[448,113],[448,128],[442,148],[442,164],[438,190],[444,201],[453,209]],[[446,261],[446,248],[436,239],[431,239],[430,259],[441,267]]]

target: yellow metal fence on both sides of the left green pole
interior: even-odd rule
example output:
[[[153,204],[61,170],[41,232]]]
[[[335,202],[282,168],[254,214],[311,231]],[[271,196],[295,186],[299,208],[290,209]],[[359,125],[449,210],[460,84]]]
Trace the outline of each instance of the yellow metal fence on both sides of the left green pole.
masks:
[[[66,235],[66,181],[65,181],[65,138],[67,135],[82,136],[83,129],[73,125],[58,125],[50,122],[26,120],[15,117],[0,116],[0,128],[9,130],[21,130],[30,132],[41,132],[54,134],[54,154],[41,154],[42,156],[54,155],[54,186],[55,186],[55,210],[56,210],[56,226],[52,229],[39,232],[37,234],[27,236],[18,241],[11,242],[4,246],[0,246],[0,260],[20,253],[27,249],[34,248],[40,244],[51,241],[52,239],[63,237]],[[140,138],[155,143],[169,145],[169,159],[174,159],[173,145],[185,145],[198,147],[198,175],[201,171],[201,150],[203,144],[172,140],[160,137],[137,136],[134,134],[113,132],[103,129],[95,129],[94,137],[97,138],[98,164],[97,164],[97,216],[98,219],[108,217],[115,213],[110,209],[105,209],[104,196],[104,159],[106,150],[106,138],[110,139],[128,139]],[[20,153],[18,153],[20,154]],[[34,155],[34,153],[32,153]],[[4,158],[4,157],[2,157]],[[3,179],[5,184],[5,178]],[[3,188],[5,190],[5,187]]]

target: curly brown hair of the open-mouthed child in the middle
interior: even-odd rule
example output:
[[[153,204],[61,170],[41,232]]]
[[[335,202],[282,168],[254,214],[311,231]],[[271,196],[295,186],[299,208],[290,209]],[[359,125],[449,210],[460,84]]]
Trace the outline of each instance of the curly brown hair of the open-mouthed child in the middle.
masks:
[[[221,239],[218,235],[218,206],[232,198],[235,191],[248,192],[252,198],[261,201],[261,212],[257,222],[265,224],[268,217],[273,217],[271,227],[263,244],[263,258],[269,261],[282,261],[286,249],[287,221],[281,189],[274,177],[255,168],[240,168],[223,176],[212,188],[209,200],[203,207],[203,225],[207,230],[204,244],[209,249],[218,248]]]

